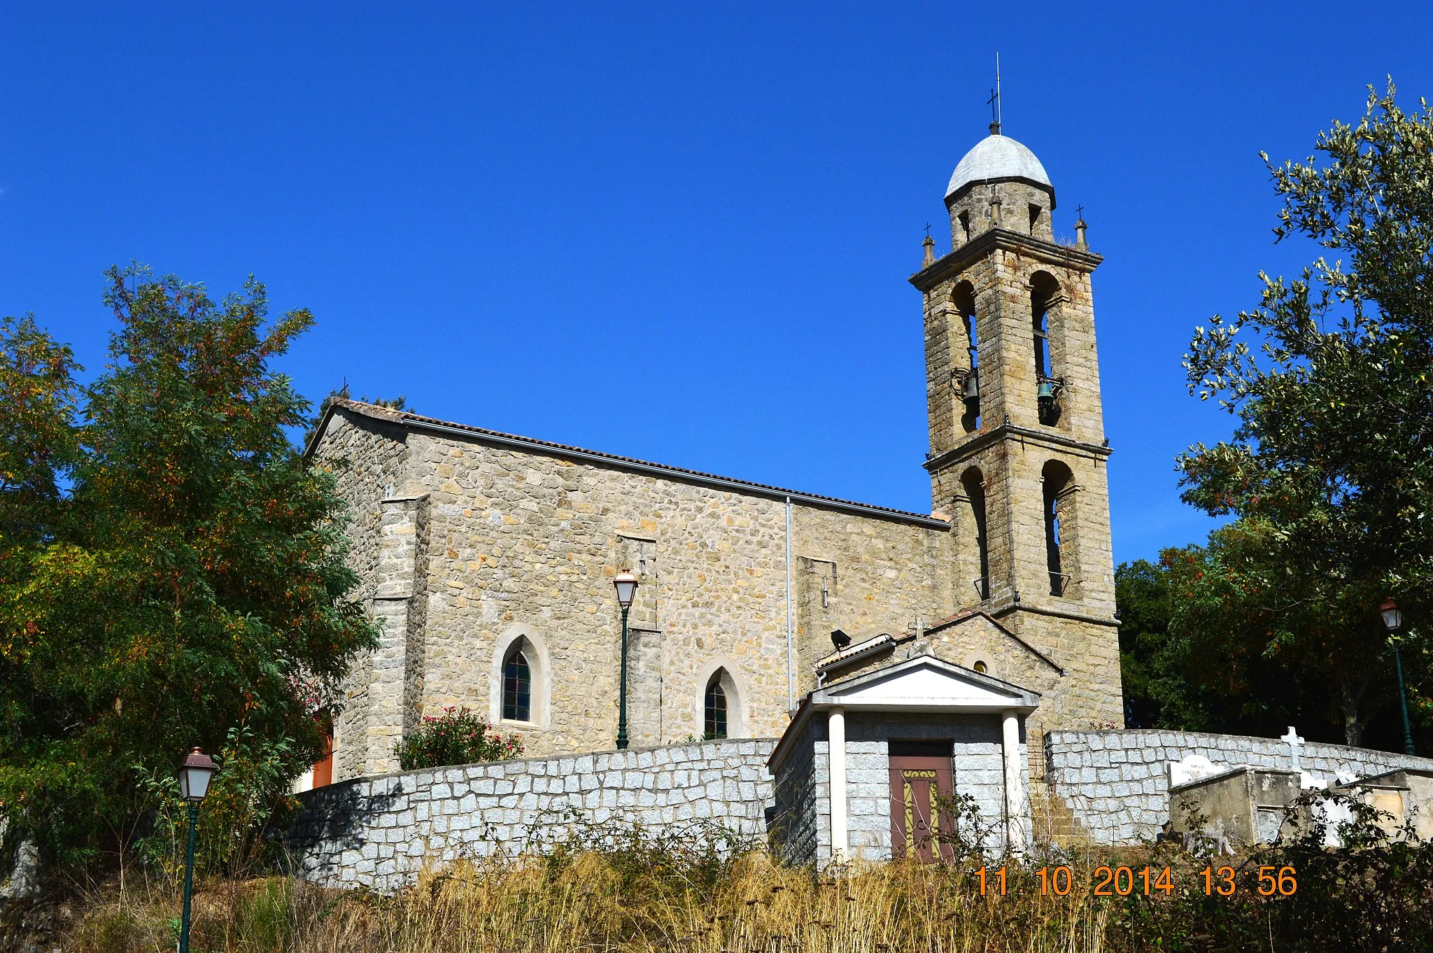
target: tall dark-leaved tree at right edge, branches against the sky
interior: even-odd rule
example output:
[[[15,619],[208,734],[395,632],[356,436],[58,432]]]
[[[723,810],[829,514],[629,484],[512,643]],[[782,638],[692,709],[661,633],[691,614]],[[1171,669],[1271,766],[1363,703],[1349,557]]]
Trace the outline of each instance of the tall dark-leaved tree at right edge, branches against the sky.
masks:
[[[1387,708],[1379,603],[1412,623],[1414,715],[1433,714],[1433,112],[1406,115],[1389,82],[1317,158],[1270,165],[1277,241],[1347,255],[1300,278],[1260,274],[1258,308],[1198,328],[1191,393],[1238,418],[1231,440],[1179,459],[1184,499],[1234,516],[1175,616],[1231,658],[1264,658],[1328,694],[1348,744]],[[1264,156],[1265,163],[1268,158]],[[1231,665],[1230,671],[1238,671]]]

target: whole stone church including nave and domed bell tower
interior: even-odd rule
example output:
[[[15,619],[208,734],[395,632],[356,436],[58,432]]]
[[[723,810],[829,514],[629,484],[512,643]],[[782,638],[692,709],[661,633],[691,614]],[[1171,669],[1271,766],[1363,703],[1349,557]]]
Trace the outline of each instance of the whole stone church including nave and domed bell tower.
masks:
[[[950,249],[927,238],[910,277],[930,513],[335,400],[307,453],[347,460],[351,560],[383,635],[351,675],[332,780],[396,771],[394,744],[447,705],[532,755],[613,750],[623,572],[633,748],[807,731],[837,686],[921,656],[920,678],[1015,699],[1030,784],[1045,732],[1121,725],[1101,258],[1083,222],[1056,241],[1045,168],[997,126],[944,201]]]

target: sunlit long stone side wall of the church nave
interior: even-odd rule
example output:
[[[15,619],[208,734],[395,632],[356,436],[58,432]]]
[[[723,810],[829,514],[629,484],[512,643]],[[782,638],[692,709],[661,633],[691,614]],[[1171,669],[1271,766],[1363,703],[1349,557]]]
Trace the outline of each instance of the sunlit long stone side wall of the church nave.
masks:
[[[645,569],[631,613],[632,742],[702,735],[701,699],[716,668],[735,684],[728,705],[737,731],[785,728],[782,500],[420,431],[407,436],[396,494],[426,499],[414,714],[467,705],[500,721],[494,653],[522,632],[547,661],[545,691],[535,692],[547,709],[499,728],[535,754],[610,744],[620,649],[612,578]],[[825,605],[797,619],[798,695],[813,686],[814,659],[830,651],[830,629],[900,632],[917,616],[953,610],[943,527],[792,509],[794,569],[802,557],[835,566]]]

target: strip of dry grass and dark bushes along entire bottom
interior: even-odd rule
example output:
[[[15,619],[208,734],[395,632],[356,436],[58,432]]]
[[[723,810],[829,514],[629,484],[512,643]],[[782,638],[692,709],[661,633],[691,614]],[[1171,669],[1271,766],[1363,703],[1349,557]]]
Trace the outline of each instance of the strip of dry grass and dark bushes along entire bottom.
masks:
[[[1320,798],[1324,792],[1318,792]],[[1128,848],[1037,846],[1020,861],[979,850],[947,864],[815,871],[719,830],[656,833],[555,815],[512,853],[427,870],[391,896],[288,878],[209,878],[195,953],[1093,953],[1095,950],[1426,950],[1433,846],[1384,830],[1350,803],[1333,850],[1328,811],[1295,810],[1278,844],[1235,856],[1176,841]],[[1003,866],[1005,877],[997,877]],[[1050,871],[1068,868],[1068,880]],[[1108,871],[1129,868],[1096,896]],[[1168,889],[1159,873],[1169,868]],[[1234,891],[1205,891],[1202,870]],[[1261,893],[1284,867],[1297,890]],[[982,868],[984,877],[982,878]],[[1042,868],[1045,876],[1042,876]],[[1108,868],[1108,870],[1102,870]],[[1141,874],[1149,870],[1149,890]],[[986,886],[982,894],[982,881]],[[1005,891],[1000,891],[1003,883]],[[1060,894],[1052,884],[1065,883]],[[1291,881],[1290,881],[1291,883]],[[172,890],[90,899],[75,953],[173,949]]]

